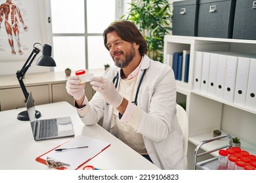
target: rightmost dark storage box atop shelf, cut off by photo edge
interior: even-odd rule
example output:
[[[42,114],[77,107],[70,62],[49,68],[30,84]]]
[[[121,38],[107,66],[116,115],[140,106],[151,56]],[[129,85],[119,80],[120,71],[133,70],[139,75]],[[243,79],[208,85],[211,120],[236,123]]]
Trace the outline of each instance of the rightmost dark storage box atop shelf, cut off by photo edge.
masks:
[[[234,39],[256,39],[256,1],[236,0]]]

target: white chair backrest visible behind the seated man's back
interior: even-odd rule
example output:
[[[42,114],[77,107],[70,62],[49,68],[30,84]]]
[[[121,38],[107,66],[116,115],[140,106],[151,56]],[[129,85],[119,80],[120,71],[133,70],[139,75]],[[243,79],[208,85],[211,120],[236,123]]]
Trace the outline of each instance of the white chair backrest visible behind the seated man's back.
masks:
[[[181,107],[181,105],[176,105],[177,109],[177,118],[179,125],[181,126],[182,135],[183,135],[183,149],[184,155],[186,155],[188,151],[188,114],[186,114],[186,110]]]

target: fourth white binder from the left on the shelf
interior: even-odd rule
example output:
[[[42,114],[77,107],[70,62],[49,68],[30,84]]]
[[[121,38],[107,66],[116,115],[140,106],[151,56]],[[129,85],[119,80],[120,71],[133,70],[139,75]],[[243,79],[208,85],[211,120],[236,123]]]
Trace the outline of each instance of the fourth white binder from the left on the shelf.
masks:
[[[227,56],[224,54],[219,54],[218,58],[218,69],[216,78],[216,89],[215,96],[219,99],[223,99],[224,95],[224,84],[226,78],[226,59]]]

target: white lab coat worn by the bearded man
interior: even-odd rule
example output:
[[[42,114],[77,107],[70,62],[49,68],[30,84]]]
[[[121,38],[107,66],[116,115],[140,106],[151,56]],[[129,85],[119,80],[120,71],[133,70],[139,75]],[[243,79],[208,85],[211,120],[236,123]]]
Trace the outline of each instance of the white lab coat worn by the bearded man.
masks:
[[[137,92],[144,69],[147,71],[137,100],[137,110],[142,111],[138,131],[142,133],[150,158],[160,169],[186,169],[182,131],[176,116],[176,84],[173,70],[168,65],[144,56],[133,96]],[[117,71],[118,67],[110,67],[103,77],[113,80]],[[115,125],[112,118],[113,109],[113,106],[108,105],[102,95],[96,92],[89,102],[89,112],[82,121],[85,125],[93,125],[104,116],[103,127],[112,132]]]

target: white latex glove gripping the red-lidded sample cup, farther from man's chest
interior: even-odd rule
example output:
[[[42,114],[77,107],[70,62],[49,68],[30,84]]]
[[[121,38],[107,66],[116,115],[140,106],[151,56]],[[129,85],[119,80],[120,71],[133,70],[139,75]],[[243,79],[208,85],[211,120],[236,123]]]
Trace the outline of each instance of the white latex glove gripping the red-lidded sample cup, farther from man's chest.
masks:
[[[80,84],[78,76],[70,76],[66,82],[66,90],[75,100],[79,100],[85,93],[85,83]]]

